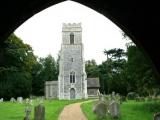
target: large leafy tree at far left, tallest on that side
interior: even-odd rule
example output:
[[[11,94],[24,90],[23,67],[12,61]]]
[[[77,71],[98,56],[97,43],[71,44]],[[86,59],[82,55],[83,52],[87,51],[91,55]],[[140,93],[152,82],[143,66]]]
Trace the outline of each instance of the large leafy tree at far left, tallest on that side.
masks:
[[[27,97],[31,93],[32,67],[36,61],[32,48],[11,34],[0,52],[0,97]]]

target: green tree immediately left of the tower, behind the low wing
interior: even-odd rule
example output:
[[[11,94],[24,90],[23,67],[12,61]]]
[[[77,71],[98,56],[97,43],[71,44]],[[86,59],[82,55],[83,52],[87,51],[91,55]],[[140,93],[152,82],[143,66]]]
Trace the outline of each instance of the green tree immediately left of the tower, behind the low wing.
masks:
[[[44,95],[45,81],[58,80],[58,69],[58,62],[51,55],[39,58],[33,69],[32,94]]]

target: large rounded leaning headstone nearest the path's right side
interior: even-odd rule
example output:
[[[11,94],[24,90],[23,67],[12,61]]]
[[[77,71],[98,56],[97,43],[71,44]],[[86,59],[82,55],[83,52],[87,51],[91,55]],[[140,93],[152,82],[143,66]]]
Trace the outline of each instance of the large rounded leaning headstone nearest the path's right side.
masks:
[[[107,113],[107,104],[103,101],[99,101],[93,106],[93,112],[99,117],[103,118]]]

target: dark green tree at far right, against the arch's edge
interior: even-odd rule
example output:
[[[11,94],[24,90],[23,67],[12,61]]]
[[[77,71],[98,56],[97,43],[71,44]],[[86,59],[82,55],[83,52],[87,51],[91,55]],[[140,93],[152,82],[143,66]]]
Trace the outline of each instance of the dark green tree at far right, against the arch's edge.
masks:
[[[127,76],[131,90],[141,95],[155,94],[159,86],[151,62],[135,45],[128,46],[127,51]]]

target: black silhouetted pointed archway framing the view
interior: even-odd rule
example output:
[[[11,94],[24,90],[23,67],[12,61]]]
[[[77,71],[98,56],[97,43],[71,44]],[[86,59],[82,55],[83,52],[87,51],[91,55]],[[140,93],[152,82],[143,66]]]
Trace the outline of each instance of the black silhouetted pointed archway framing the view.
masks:
[[[24,21],[41,10],[64,0],[2,0],[0,4],[0,41],[12,33]],[[155,1],[136,0],[74,0],[111,19],[152,60],[160,73],[158,44],[160,8]],[[2,45],[2,44],[0,44]]]

